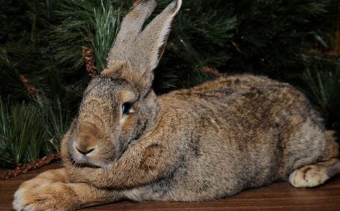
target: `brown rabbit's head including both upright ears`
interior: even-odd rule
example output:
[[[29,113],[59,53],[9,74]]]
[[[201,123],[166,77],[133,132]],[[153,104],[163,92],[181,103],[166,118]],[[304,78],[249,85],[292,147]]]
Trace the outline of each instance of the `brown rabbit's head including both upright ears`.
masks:
[[[154,124],[158,101],[151,88],[171,22],[182,1],[173,1],[142,30],[155,0],[142,1],[123,19],[106,68],[85,90],[62,154],[78,165],[105,167]]]

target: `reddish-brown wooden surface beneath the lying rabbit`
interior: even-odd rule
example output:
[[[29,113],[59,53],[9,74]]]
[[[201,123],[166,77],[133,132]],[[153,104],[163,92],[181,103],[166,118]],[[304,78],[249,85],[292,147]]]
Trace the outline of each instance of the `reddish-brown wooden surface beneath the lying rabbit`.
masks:
[[[60,163],[28,172],[17,178],[0,180],[0,210],[12,210],[12,196],[20,183],[33,178],[46,169],[58,168]],[[164,203],[144,202],[134,203],[123,201],[86,208],[84,211],[94,210],[308,210],[332,211],[340,210],[340,176],[333,178],[325,185],[315,188],[294,188],[289,183],[275,183],[268,187],[246,190],[228,199],[205,201],[201,203]]]

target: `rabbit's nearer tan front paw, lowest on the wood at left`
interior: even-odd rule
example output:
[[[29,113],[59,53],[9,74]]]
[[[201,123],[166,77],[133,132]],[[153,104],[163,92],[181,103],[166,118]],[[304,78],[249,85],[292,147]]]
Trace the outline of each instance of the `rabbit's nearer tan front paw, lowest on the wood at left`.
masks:
[[[44,183],[28,191],[17,190],[12,203],[17,211],[76,210],[80,204],[74,190],[67,183]]]

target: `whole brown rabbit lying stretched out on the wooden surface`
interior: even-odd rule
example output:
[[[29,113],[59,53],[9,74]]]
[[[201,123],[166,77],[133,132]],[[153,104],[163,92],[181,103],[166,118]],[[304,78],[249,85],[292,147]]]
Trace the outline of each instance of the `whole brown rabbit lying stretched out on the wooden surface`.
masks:
[[[15,210],[206,201],[275,181],[314,187],[340,172],[334,133],[289,84],[233,75],[155,95],[153,70],[181,3],[144,29],[155,0],[124,17],[62,140],[63,167],[22,183]]]

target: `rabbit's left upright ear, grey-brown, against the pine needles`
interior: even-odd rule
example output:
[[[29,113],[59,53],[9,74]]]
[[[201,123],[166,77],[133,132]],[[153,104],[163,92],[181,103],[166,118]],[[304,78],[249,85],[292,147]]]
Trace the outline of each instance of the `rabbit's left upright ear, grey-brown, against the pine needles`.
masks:
[[[128,15],[121,22],[121,29],[109,53],[108,64],[117,60],[126,61],[128,59],[144,21],[155,10],[156,5],[155,0],[146,0],[128,12]]]

